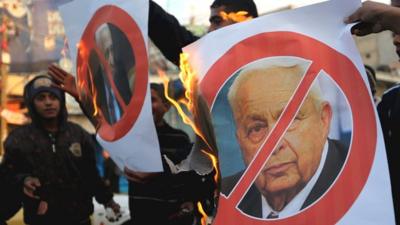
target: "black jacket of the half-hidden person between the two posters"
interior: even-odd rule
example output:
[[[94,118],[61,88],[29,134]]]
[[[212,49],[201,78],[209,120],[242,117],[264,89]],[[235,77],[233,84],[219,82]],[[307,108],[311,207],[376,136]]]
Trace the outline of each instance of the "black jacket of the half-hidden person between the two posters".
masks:
[[[192,147],[181,130],[172,128],[165,121],[156,127],[163,155],[164,172],[145,183],[129,182],[129,210],[133,224],[183,225],[193,223],[193,214],[179,215],[184,202],[197,203],[213,193],[215,188],[209,176],[200,176],[194,171],[172,174],[166,164],[167,156],[174,164],[185,159]],[[152,215],[152,216],[149,216]]]

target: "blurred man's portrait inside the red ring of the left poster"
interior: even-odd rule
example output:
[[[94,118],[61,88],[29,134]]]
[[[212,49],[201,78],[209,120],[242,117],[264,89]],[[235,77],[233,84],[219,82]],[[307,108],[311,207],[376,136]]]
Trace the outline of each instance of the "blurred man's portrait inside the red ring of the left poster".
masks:
[[[132,98],[135,82],[135,57],[127,37],[116,26],[105,23],[96,31],[99,52],[90,55],[90,67],[98,92],[101,111],[110,124],[116,123],[124,113],[123,105]],[[102,53],[102,56],[97,55]],[[100,57],[104,57],[110,71],[105,70]],[[110,74],[108,75],[107,72]],[[116,90],[112,89],[112,83]],[[118,95],[120,99],[118,99]]]

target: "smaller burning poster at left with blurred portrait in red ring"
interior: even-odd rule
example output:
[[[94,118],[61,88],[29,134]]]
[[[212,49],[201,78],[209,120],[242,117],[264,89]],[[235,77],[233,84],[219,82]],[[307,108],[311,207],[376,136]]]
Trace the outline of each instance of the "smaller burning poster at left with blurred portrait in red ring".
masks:
[[[162,171],[148,84],[148,1],[61,7],[77,85],[98,140],[120,169]]]

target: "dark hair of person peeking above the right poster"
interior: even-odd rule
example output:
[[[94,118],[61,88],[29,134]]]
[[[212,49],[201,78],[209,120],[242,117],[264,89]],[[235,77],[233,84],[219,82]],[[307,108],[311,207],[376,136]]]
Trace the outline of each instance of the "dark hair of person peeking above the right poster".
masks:
[[[253,18],[258,17],[257,6],[253,0],[214,0],[211,8],[225,6],[225,10],[229,12],[246,11]]]

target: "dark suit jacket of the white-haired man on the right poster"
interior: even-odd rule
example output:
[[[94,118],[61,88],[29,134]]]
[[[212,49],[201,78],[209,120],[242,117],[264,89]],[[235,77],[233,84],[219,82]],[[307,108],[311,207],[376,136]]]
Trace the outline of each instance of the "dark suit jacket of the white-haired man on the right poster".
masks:
[[[311,189],[310,194],[307,196],[305,202],[301,206],[301,209],[304,209],[307,206],[311,205],[325,193],[325,191],[336,179],[336,176],[340,172],[340,169],[342,168],[343,163],[346,160],[348,149],[338,141],[328,141],[329,148],[325,165],[322,168],[321,174],[318,177],[317,182]],[[228,196],[233,187],[239,181],[243,172],[244,171],[241,171],[235,175],[222,179],[221,192]],[[260,192],[257,190],[257,187],[254,184],[250,187],[249,191],[240,202],[239,209],[248,215],[258,218],[262,217]]]

